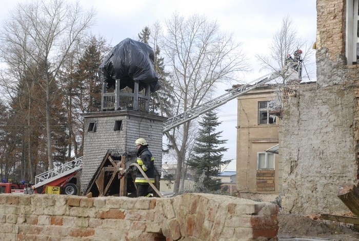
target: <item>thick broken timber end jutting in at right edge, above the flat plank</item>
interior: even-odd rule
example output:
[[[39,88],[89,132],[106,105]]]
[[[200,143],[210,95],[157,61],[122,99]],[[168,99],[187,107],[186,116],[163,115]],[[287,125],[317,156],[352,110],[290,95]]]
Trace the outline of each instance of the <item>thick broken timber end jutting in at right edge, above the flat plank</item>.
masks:
[[[357,217],[359,217],[359,190],[354,184],[344,186],[338,192],[338,198],[344,202],[345,206]]]

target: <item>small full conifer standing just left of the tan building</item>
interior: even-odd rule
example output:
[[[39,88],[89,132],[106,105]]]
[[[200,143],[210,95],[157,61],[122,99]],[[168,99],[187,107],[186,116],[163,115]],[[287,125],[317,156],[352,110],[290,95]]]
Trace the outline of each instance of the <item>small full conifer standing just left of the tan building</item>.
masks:
[[[188,168],[196,174],[195,181],[198,182],[204,173],[203,186],[209,191],[221,189],[221,179],[216,178],[221,173],[221,165],[228,164],[231,160],[222,160],[223,152],[227,151],[226,147],[219,147],[225,144],[227,140],[220,140],[222,132],[215,132],[218,122],[217,114],[210,110],[205,113],[202,121],[199,121],[200,129],[198,137],[195,138],[193,147],[194,154],[187,161]]]

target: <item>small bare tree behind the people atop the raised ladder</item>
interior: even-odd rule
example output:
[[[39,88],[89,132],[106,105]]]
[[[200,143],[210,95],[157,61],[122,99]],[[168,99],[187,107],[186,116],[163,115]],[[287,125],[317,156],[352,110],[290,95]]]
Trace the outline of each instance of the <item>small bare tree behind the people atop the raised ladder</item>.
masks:
[[[262,69],[269,69],[270,71],[277,72],[281,76],[281,83],[284,84],[288,79],[287,55],[294,53],[296,50],[303,51],[302,61],[310,57],[313,53],[311,46],[305,41],[302,41],[297,36],[296,29],[289,15],[283,18],[281,28],[273,35],[273,40],[269,46],[270,53],[268,55],[257,54],[256,58],[263,66]],[[307,71],[305,69],[305,71]],[[306,76],[308,72],[306,72]]]

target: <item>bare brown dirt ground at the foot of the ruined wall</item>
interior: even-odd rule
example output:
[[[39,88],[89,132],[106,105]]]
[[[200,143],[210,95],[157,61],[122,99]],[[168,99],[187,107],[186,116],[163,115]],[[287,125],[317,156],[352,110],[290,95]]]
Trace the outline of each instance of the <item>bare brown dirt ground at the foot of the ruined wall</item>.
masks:
[[[320,215],[278,213],[279,240],[359,240],[352,225],[324,220]]]

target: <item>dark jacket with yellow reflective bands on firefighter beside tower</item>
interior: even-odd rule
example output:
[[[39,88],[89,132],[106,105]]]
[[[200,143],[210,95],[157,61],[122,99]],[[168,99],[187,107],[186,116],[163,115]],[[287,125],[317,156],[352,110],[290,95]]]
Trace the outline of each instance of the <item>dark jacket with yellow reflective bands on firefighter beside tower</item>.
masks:
[[[147,146],[137,155],[137,164],[141,166],[148,179],[150,179],[150,181],[154,183],[154,157],[148,150]],[[145,179],[145,177],[140,171],[137,171],[135,183],[145,184],[148,183],[148,181]]]

